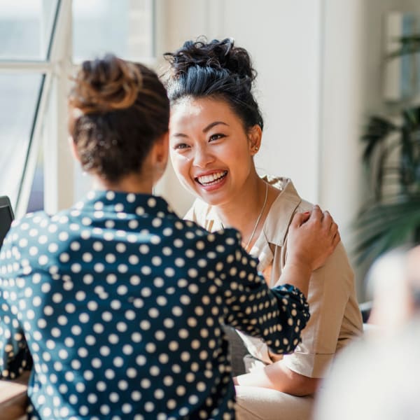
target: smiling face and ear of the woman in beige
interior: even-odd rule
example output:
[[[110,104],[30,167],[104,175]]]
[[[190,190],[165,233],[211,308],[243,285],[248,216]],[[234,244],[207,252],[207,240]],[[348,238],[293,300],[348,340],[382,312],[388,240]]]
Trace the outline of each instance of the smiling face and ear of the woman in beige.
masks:
[[[183,186],[209,204],[248,199],[241,191],[257,181],[258,125],[247,133],[225,100],[189,98],[173,106],[170,132],[172,164]]]

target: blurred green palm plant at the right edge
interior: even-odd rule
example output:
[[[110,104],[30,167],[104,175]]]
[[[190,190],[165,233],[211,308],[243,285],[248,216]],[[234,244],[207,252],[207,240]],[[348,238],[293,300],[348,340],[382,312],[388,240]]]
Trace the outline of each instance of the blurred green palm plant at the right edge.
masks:
[[[393,57],[420,52],[420,34],[400,38]],[[373,197],[356,221],[359,261],[407,242],[420,243],[420,104],[398,116],[372,116],[362,136]]]

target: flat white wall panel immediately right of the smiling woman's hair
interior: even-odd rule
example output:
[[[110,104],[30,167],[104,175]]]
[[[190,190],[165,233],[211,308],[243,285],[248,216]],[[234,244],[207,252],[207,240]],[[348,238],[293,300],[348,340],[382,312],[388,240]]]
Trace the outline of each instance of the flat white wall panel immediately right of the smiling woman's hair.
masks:
[[[251,52],[258,71],[265,130],[255,163],[262,172],[293,179],[311,202],[318,201],[320,11],[318,0],[264,1],[260,7],[231,0],[223,14],[226,36]]]

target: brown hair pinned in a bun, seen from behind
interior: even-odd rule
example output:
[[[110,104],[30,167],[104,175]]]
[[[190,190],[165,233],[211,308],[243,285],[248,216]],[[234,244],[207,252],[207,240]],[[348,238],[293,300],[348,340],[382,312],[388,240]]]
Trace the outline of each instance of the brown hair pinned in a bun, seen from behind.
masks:
[[[69,107],[83,169],[111,182],[139,172],[169,127],[169,99],[156,73],[114,55],[83,62]]]

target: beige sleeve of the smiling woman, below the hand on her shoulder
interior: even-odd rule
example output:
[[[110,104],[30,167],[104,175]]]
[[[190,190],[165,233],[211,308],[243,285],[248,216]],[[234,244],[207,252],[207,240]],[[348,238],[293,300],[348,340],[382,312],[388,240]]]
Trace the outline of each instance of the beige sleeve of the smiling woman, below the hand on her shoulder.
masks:
[[[339,342],[360,335],[362,320],[356,302],[353,271],[342,244],[311,276],[308,293],[311,320],[295,352],[283,358],[293,372],[324,377]]]

